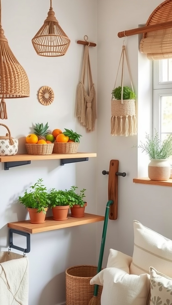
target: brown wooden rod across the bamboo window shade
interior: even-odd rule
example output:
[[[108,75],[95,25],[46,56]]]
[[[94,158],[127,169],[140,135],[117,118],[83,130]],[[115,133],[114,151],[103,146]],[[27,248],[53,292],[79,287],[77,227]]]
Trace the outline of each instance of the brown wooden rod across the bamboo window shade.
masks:
[[[118,37],[122,38],[122,37],[125,37],[125,36],[132,36],[132,35],[141,34],[141,33],[145,33],[145,32],[153,32],[153,31],[157,31],[157,30],[164,30],[164,29],[168,29],[169,27],[172,27],[172,21],[147,25],[145,27],[138,27],[136,29],[125,30],[125,31],[122,31],[122,32],[118,32]]]

